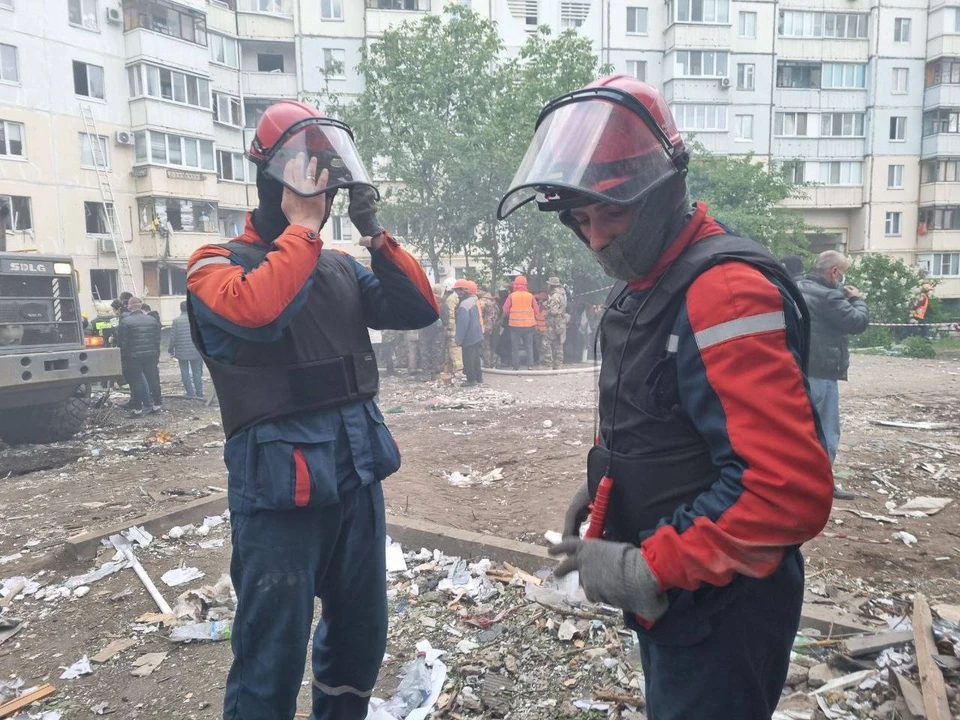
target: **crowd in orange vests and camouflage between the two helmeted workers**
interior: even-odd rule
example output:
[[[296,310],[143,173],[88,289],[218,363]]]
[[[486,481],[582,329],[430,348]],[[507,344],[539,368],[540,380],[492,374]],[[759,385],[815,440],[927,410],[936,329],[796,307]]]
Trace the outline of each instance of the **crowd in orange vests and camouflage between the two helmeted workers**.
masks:
[[[570,300],[556,276],[537,293],[524,275],[510,287],[494,295],[465,278],[434,285],[436,323],[418,331],[383,331],[386,374],[398,367],[430,379],[462,372],[464,384],[473,386],[483,382],[485,367],[557,370],[565,359],[581,362],[599,320],[598,306]]]

